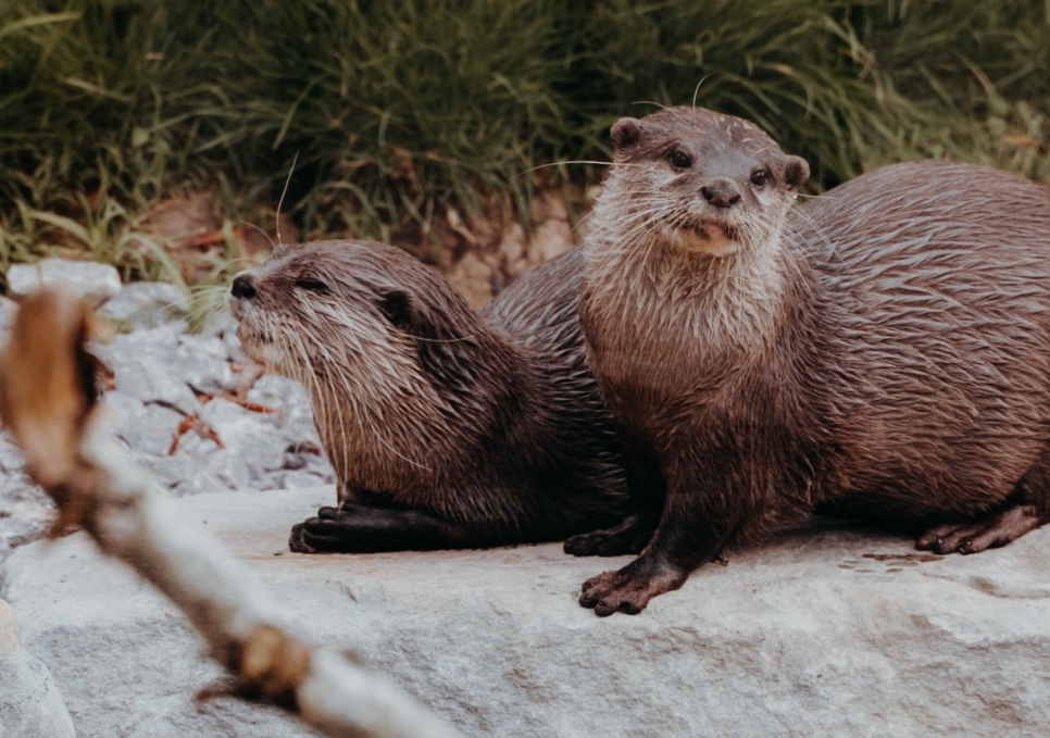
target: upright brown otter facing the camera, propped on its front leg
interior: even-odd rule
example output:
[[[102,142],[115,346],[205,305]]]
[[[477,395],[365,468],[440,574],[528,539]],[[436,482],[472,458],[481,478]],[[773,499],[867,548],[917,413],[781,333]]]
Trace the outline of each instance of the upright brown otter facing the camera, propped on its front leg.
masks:
[[[815,509],[942,554],[1050,518],[1050,190],[917,162],[792,209],[807,162],[747,121],[611,134],[579,312],[645,514],[582,548],[646,545],[582,605],[638,613]]]

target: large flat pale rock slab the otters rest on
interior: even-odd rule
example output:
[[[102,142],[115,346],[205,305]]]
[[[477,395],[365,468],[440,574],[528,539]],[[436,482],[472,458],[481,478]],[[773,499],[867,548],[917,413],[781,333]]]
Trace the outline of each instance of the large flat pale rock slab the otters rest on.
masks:
[[[289,526],[333,498],[178,503],[293,625],[353,648],[468,736],[1050,735],[1050,530],[937,559],[824,523],[600,620],[577,605],[579,584],[627,559],[557,545],[287,552]],[[83,534],[20,548],[3,577],[82,738],[311,735],[273,709],[195,703],[218,674],[201,642]]]

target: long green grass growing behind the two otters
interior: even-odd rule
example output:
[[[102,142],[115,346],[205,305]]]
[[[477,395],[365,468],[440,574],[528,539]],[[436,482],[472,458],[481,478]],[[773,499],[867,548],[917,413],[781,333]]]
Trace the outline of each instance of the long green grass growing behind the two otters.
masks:
[[[297,153],[285,210],[309,237],[397,240],[492,200],[524,215],[534,187],[601,175],[523,173],[605,159],[617,117],[693,96],[820,187],[921,157],[1050,178],[1046,1],[214,5],[0,7],[0,270],[72,250],[172,274],[139,213],[205,190],[272,229]]]

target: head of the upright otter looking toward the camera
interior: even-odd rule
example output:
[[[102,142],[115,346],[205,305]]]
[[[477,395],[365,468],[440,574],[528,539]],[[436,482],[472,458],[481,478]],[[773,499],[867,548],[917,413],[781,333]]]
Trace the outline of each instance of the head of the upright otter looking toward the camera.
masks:
[[[725,255],[768,242],[810,176],[758,126],[709,110],[670,108],[613,125],[621,238],[658,236],[684,250]]]

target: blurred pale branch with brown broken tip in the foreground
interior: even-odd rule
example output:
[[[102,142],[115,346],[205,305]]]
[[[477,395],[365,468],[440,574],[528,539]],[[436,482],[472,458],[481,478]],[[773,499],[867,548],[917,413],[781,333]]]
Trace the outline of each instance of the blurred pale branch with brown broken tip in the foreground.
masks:
[[[180,523],[171,500],[96,427],[88,334],[80,303],[40,291],[22,303],[0,354],[0,418],[30,476],[58,503],[58,525],[83,526],[102,551],[167,595],[254,699],[329,736],[457,736],[397,687],[288,633],[218,541]]]

